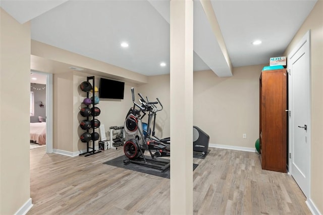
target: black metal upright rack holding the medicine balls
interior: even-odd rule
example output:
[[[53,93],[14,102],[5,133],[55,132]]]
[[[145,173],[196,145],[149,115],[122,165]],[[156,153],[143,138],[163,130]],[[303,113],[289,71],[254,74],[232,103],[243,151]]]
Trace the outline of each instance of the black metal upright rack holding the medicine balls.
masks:
[[[95,105],[94,105],[94,93],[95,93],[95,89],[94,89],[94,76],[90,76],[90,77],[87,77],[87,81],[88,82],[90,82],[90,80],[92,80],[92,93],[93,93],[93,99],[92,99],[92,108],[93,108],[93,111],[94,111],[94,107],[95,107]],[[86,97],[87,98],[89,98],[89,92],[86,92]],[[92,120],[93,120],[93,123],[94,123],[94,118],[95,118],[95,116],[94,116],[94,113],[93,113],[93,115],[92,115]],[[89,120],[89,116],[87,116],[86,117],[86,120]],[[92,120],[91,120],[91,124],[92,124]],[[91,138],[92,138],[92,147],[90,147],[90,142],[89,141],[87,141],[86,142],[86,152],[85,153],[82,153],[82,154],[79,154],[79,155],[85,155],[84,157],[87,157],[87,156],[91,156],[91,155],[94,155],[94,154],[97,154],[97,153],[100,153],[101,151],[100,150],[95,150],[95,140],[94,140],[94,132],[95,132],[95,128],[94,128],[94,124],[93,124],[93,126],[92,126],[92,128],[91,129],[86,129],[86,131],[87,132],[89,132],[89,130],[92,130],[92,136],[91,136]]]

